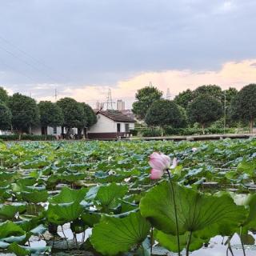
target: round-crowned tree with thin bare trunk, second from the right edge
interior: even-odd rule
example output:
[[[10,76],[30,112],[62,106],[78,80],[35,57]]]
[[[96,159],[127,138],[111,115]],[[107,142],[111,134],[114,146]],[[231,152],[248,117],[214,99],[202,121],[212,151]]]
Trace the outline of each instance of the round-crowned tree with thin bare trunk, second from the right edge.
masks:
[[[190,102],[187,115],[191,122],[198,122],[202,126],[202,133],[205,134],[205,127],[211,122],[222,117],[222,103],[207,94],[202,94]]]

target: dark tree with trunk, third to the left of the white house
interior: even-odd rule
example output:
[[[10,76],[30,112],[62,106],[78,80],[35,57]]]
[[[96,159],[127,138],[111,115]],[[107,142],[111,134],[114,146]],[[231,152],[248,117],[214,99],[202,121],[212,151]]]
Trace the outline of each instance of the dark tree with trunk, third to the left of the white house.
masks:
[[[39,102],[38,104],[40,112],[40,123],[44,130],[44,134],[47,134],[47,126],[62,126],[64,122],[62,109],[53,102]]]

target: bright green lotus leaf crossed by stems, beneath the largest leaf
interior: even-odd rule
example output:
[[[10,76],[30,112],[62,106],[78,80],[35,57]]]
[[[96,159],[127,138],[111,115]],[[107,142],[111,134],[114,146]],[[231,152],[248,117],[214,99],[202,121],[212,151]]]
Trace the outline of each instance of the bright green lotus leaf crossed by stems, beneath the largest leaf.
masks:
[[[189,240],[189,235],[190,234],[186,232],[185,234],[179,236],[181,250],[186,248],[187,242]],[[161,246],[165,247],[167,250],[178,252],[177,236],[172,234],[166,234],[159,230],[155,230],[154,238],[160,243]],[[198,250],[203,246],[205,242],[209,242],[209,240],[210,239],[196,238],[192,234],[189,250]]]

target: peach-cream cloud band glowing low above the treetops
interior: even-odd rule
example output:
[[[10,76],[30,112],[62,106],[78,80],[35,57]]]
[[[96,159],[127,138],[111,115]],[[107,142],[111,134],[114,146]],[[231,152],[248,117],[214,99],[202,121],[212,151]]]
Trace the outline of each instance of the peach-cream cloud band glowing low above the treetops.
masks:
[[[115,86],[79,86],[67,87],[59,91],[58,97],[72,97],[79,102],[88,102],[95,107],[97,101],[106,102],[108,89],[112,90],[114,101],[123,99],[126,106],[131,107],[136,91],[152,82],[163,94],[170,88],[172,98],[182,90],[194,90],[198,86],[216,84],[222,89],[230,86],[240,90],[249,83],[256,82],[256,59],[242,62],[226,62],[220,70],[165,70],[161,72],[145,72],[120,80]],[[41,98],[46,99],[46,98]],[[48,98],[53,99],[53,97]]]

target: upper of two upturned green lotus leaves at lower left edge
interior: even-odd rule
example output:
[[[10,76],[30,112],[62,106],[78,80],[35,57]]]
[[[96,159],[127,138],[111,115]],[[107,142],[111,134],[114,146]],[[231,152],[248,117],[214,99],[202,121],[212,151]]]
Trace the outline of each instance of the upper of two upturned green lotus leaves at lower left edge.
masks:
[[[14,218],[15,214],[22,214],[26,211],[26,203],[14,202],[12,204],[0,205],[0,218],[8,219]]]

